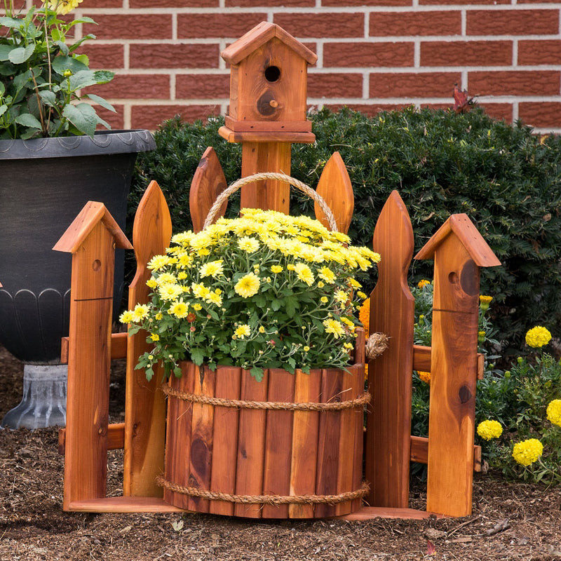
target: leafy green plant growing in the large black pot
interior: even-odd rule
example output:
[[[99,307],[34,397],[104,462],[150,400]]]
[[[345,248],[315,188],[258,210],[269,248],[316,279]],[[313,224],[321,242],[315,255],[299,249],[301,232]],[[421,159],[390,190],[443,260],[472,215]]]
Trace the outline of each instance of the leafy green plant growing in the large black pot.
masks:
[[[102,97],[82,91],[109,82],[114,73],[90,70],[86,55],[76,53],[93,35],[67,44],[76,24],[95,23],[91,18],[61,20],[58,14],[68,13],[69,6],[51,0],[18,14],[12,0],[6,1],[6,15],[0,18],[0,139],[91,136],[98,124],[110,128],[81,100],[114,111]]]

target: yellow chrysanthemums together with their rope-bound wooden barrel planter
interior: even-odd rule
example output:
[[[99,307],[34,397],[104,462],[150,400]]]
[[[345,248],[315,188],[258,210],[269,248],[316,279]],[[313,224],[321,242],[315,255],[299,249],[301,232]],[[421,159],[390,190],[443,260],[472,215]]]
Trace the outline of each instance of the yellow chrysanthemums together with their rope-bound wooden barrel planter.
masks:
[[[173,236],[148,264],[149,302],[121,315],[148,333],[137,367],[169,378],[164,496],[250,517],[349,512],[365,492],[356,276],[379,255],[308,217],[241,215]]]

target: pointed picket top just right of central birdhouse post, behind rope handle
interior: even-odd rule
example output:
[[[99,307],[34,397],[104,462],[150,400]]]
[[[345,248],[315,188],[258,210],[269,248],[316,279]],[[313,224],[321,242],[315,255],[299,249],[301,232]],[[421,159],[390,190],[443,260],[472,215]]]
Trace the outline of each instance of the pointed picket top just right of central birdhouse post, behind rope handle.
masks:
[[[351,219],[353,218],[355,198],[351,177],[349,177],[349,172],[346,170],[345,163],[339,152],[334,152],[325,164],[316,192],[331,209],[335,222],[337,222],[337,229],[346,234],[349,231]],[[314,210],[318,220],[325,227],[329,228],[329,222],[327,222],[325,214],[318,203],[314,205]]]

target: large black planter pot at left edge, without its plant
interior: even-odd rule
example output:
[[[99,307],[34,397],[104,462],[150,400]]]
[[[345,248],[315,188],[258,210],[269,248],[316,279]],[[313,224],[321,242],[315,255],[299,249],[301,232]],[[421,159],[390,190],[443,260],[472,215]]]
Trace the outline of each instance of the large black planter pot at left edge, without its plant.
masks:
[[[60,339],[68,334],[72,257],[53,251],[53,245],[88,201],[104,203],[124,229],[137,154],[154,147],[148,130],[0,140],[0,344],[26,365],[59,365]],[[120,252],[115,311],[122,286]],[[41,376],[34,374],[36,378]],[[24,396],[16,409],[30,408],[34,419],[43,416],[36,396],[25,401]],[[53,405],[46,406],[47,417],[52,414],[48,407]],[[16,428],[12,412],[2,426]],[[50,424],[48,419],[42,423],[34,421],[29,428]]]

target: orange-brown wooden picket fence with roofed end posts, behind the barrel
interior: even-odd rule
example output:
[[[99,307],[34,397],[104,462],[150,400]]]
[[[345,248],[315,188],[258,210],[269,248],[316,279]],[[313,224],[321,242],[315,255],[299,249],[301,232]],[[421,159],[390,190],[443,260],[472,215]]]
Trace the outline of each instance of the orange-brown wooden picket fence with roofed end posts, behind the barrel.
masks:
[[[196,229],[201,229],[201,216],[225,187],[221,173],[209,149],[191,186]],[[342,231],[353,209],[349,186],[335,154],[325,166],[318,192]],[[133,227],[137,273],[129,287],[131,307],[147,302],[147,262],[168,247],[171,231],[168,205],[158,184],[151,182]],[[452,215],[442,225],[415,257],[434,259],[435,264],[432,346],[422,347],[413,343],[414,300],[407,285],[413,231],[397,191],[379,216],[372,245],[382,259],[371,295],[370,332],[390,339],[385,353],[369,364],[372,403],[367,408],[364,475],[370,494],[363,508],[344,518],[468,515],[473,470],[480,466],[480,450],[473,440],[475,384],[483,370],[477,352],[479,270],[499,262],[466,215]],[[156,372],[147,381],[142,370],[135,370],[137,357],[148,349],[145,334],[111,334],[114,250],[133,246],[104,205],[90,202],[54,248],[72,253],[70,332],[62,351],[69,366],[67,428],[60,435],[66,455],[66,511],[179,510],[163,501],[156,485],[165,453],[161,375]],[[111,359],[125,357],[125,421],[109,424]],[[428,438],[411,435],[413,370],[431,372]],[[111,449],[124,450],[122,496],[106,496]],[[428,464],[426,511],[408,508],[411,461]]]

